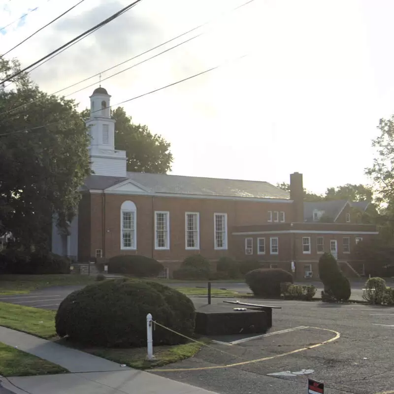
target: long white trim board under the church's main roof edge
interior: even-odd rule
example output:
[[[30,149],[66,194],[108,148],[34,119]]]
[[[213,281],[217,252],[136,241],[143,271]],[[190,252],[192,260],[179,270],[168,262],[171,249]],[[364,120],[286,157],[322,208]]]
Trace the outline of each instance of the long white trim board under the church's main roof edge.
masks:
[[[134,183],[137,185],[136,183]],[[117,186],[118,184],[116,184]],[[114,186],[111,186],[114,188]],[[146,188],[145,188],[146,189]],[[87,190],[87,189],[86,189]],[[257,197],[236,197],[236,196],[206,196],[199,194],[171,194],[171,193],[153,193],[153,192],[132,192],[132,191],[117,191],[115,188],[110,189],[107,188],[105,190],[100,189],[89,189],[89,193],[91,194],[122,194],[125,196],[150,196],[150,197],[172,197],[172,198],[200,198],[200,199],[214,199],[214,200],[234,200],[234,201],[256,201],[256,202],[277,202],[279,204],[291,204],[293,200],[288,200],[284,198],[257,198]]]

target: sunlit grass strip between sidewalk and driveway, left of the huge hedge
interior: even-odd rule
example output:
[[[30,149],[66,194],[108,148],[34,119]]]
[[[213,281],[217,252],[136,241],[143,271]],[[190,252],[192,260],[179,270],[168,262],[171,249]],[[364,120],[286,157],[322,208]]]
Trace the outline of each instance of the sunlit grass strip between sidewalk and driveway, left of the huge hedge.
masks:
[[[56,336],[56,311],[0,302],[0,326],[24,331],[41,338]]]

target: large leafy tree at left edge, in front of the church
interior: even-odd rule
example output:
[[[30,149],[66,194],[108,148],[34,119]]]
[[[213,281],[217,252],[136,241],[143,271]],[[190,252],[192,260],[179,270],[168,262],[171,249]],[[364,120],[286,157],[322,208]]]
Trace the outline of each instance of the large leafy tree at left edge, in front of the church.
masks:
[[[0,80],[19,69],[18,61],[0,58]],[[27,250],[44,248],[52,214],[65,231],[74,215],[91,173],[89,141],[73,100],[48,96],[25,73],[13,82],[0,89],[0,235],[12,233]]]

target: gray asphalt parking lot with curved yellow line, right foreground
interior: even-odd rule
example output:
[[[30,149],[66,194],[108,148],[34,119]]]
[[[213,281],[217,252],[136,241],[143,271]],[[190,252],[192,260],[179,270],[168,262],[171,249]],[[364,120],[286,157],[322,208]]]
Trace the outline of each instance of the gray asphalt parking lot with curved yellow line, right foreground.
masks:
[[[260,302],[282,306],[268,335],[214,343],[154,373],[223,394],[304,394],[307,376],[325,382],[325,393],[394,393],[394,308]]]

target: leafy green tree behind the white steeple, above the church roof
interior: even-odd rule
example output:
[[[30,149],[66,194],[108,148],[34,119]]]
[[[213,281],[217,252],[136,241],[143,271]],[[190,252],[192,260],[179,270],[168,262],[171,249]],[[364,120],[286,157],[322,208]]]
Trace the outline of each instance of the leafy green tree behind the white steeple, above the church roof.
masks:
[[[89,119],[90,110],[83,110],[81,117]],[[111,117],[116,120],[115,146],[127,152],[128,171],[165,174],[171,170],[170,143],[160,135],[152,134],[147,126],[133,124],[122,107],[111,111]]]

